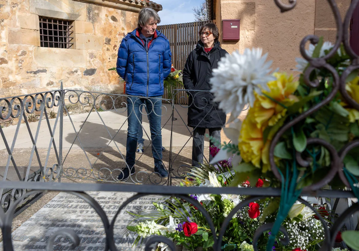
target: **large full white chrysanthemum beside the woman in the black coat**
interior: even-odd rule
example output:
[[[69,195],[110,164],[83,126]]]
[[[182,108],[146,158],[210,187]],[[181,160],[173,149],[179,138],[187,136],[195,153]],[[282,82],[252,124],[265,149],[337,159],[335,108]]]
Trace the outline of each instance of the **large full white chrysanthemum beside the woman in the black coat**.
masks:
[[[253,105],[255,91],[268,90],[267,82],[275,80],[269,75],[272,61],[266,62],[267,55],[262,56],[260,48],[246,48],[243,54],[235,51],[222,57],[218,68],[213,69],[211,91],[219,108],[231,113],[228,123],[238,117],[246,104]]]

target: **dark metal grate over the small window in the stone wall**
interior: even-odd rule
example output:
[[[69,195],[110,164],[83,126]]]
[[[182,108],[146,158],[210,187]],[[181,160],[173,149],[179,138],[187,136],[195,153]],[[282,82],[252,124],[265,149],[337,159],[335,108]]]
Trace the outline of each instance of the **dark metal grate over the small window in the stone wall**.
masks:
[[[73,48],[72,21],[39,16],[40,46],[51,48]]]

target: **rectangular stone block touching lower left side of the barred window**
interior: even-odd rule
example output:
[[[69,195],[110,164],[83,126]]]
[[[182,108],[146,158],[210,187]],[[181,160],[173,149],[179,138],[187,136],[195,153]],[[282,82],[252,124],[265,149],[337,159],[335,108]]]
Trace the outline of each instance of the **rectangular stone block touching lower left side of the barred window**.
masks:
[[[31,29],[13,29],[8,30],[9,44],[27,44],[40,46],[40,31]]]

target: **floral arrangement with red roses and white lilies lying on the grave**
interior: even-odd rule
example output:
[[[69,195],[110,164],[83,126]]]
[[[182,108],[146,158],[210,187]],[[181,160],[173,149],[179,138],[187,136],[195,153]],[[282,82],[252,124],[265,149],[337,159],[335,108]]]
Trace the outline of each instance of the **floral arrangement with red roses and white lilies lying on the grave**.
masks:
[[[213,156],[218,151],[218,148],[210,147]],[[187,175],[184,183],[187,186],[207,187],[237,184],[232,163],[233,158],[229,157],[216,165],[206,164],[201,168],[194,168]],[[249,188],[251,184],[255,187],[269,186],[267,180],[259,178],[246,180],[238,187]],[[274,222],[278,209],[273,207],[271,199],[250,203],[246,203],[245,199],[245,196],[234,194],[191,194],[186,199],[162,198],[153,203],[155,210],[133,214],[134,221],[127,226],[127,229],[138,235],[134,245],[141,242],[143,238],[160,235],[171,239],[177,245],[183,245],[190,251],[195,251],[198,247],[213,250],[214,235],[218,237],[223,222],[229,218],[227,228],[223,232],[222,250],[253,251],[253,245],[257,245],[258,250],[265,250],[271,236],[270,230],[265,231],[257,240],[254,240],[255,232],[263,224]],[[241,202],[246,205],[238,212],[232,211]],[[275,202],[278,204],[279,198],[275,199]],[[330,210],[319,205],[312,206],[321,212],[325,224],[330,224],[332,219]],[[198,207],[203,207],[208,212],[214,223],[214,229],[211,229],[208,220]],[[266,210],[268,207],[271,207],[270,210]],[[283,226],[288,230],[289,245],[283,245],[278,239],[271,250],[319,250],[318,244],[323,241],[324,230],[322,222],[314,215],[311,208],[296,202],[290,208]],[[280,234],[279,238],[284,238],[284,235]],[[167,245],[159,243],[157,250],[169,250],[166,248]]]

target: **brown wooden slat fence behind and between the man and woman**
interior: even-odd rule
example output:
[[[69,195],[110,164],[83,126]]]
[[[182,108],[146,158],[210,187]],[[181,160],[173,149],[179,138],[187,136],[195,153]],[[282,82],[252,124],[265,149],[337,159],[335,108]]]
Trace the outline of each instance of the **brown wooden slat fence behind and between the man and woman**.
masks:
[[[177,70],[182,71],[185,67],[187,56],[196,48],[196,44],[200,39],[198,32],[201,26],[206,23],[208,21],[157,26],[157,30],[168,38],[169,45],[171,46],[173,67]],[[178,89],[184,88],[178,86]],[[166,90],[163,98],[168,98]],[[180,91],[177,94],[176,101],[177,104],[188,104],[186,92]]]

